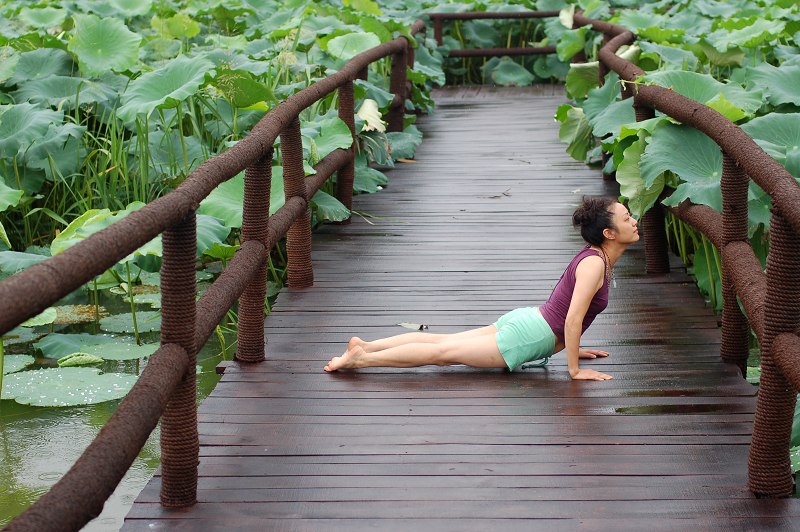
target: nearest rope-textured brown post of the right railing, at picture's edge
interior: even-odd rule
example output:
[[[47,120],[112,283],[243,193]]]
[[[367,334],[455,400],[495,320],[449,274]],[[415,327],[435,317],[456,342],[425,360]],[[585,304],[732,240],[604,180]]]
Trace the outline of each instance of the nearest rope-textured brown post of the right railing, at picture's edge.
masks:
[[[761,342],[761,383],[750,446],[748,487],[757,495],[789,497],[794,489],[789,460],[797,391],[775,364],[772,343],[800,326],[800,238],[773,210],[767,257],[767,297]]]

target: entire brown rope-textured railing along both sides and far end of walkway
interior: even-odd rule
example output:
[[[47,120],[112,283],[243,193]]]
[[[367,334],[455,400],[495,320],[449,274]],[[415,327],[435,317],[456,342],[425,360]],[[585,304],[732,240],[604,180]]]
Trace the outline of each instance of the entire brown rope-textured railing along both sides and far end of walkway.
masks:
[[[480,18],[542,18],[558,12],[429,14],[441,40],[442,21]],[[633,81],[644,72],[619,58],[615,51],[633,41],[620,26],[578,14],[577,25],[589,25],[606,35],[600,50],[603,65]],[[417,21],[412,34],[424,29]],[[500,49],[499,55],[514,55]],[[553,53],[528,49],[524,53]],[[483,55],[498,55],[497,49]],[[451,52],[457,55],[461,52]],[[464,55],[481,55],[469,51]],[[519,54],[522,54],[520,52]],[[519,55],[518,54],[518,55]],[[161,347],[128,396],[75,465],[51,490],[6,530],[77,530],[102,510],[105,500],[130,467],[161,419],[161,503],[166,507],[194,504],[197,493],[199,443],[195,406],[195,358],[198,346],[239,300],[240,362],[264,360],[266,264],[272,247],[287,238],[288,277],[292,287],[313,283],[308,198],[337,173],[337,198],[352,205],[354,147],[336,150],[303,172],[298,115],[314,102],[338,91],[339,116],[355,141],[353,81],[363,79],[375,61],[392,57],[390,131],[402,130],[408,96],[406,67],[413,66],[413,48],[399,37],[351,59],[339,72],[311,85],[270,111],[230,150],[197,168],[173,192],[80,244],[0,283],[0,334],[111,268],[134,250],[163,234],[161,269]],[[601,69],[602,79],[602,69]],[[723,214],[708,207],[682,204],[673,212],[706,234],[723,260],[722,357],[743,366],[747,358],[747,322],[736,304],[742,300],[762,345],[762,376],[753,445],[750,488],[768,496],[791,492],[789,437],[796,389],[800,389],[800,264],[792,254],[800,249],[800,187],[792,176],[735,124],[716,111],[668,89],[639,85],[633,97],[638,120],[658,109],[714,139],[725,154],[722,177]],[[281,137],[286,202],[269,216],[272,147]],[[226,270],[195,302],[195,211],[220,183],[245,170],[242,245]],[[766,275],[747,241],[747,183],[752,177],[775,205],[771,250]],[[668,270],[663,211],[657,206],[645,217],[647,269]]]

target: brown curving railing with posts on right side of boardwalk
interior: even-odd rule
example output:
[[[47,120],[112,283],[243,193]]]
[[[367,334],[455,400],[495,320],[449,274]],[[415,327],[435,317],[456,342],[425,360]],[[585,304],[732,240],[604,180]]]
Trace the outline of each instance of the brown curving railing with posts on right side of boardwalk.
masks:
[[[800,263],[796,260],[800,249],[800,186],[750,136],[714,109],[667,88],[636,83],[645,72],[615,54],[622,45],[633,42],[636,36],[632,32],[580,13],[575,14],[574,25],[591,26],[604,34],[598,57],[622,80],[633,82],[633,90],[623,89],[623,97],[633,96],[637,121],[651,118],[657,109],[705,133],[722,150],[722,214],[688,200],[670,211],[708,236],[720,250],[724,305],[720,354],[743,372],[749,332],[737,297],[747,310],[761,344],[761,382],[748,486],[757,495],[788,497],[794,490],[789,445],[800,390]],[[773,202],[766,274],[747,237],[749,179],[761,186]],[[660,205],[645,215],[643,225],[649,271],[651,262],[663,263],[666,257]],[[653,239],[656,235],[661,238]],[[652,240],[660,242],[653,246]],[[651,261],[651,257],[655,258]]]

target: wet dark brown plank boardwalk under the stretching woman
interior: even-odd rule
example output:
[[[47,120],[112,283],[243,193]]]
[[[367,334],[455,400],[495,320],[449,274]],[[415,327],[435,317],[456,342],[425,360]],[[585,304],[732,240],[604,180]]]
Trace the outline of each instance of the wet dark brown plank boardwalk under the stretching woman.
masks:
[[[353,334],[540,304],[582,245],[581,196],[615,193],[558,142],[559,88],[436,100],[417,162],[355,198],[371,223],[315,235],[315,286],[279,296],[268,361],[229,365],[201,405],[198,504],[162,509],[156,474],[123,530],[797,529],[797,500],[745,488],[755,388],[719,361],[717,318],[677,263],[645,275],[641,245],[584,337],[612,381],[570,381],[563,353],[322,371]]]

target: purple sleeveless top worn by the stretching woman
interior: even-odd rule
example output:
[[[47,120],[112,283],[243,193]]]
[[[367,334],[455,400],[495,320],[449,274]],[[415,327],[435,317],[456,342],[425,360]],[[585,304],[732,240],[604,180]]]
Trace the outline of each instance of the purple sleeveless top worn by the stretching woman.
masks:
[[[556,283],[547,302],[539,307],[539,312],[541,312],[542,317],[544,317],[547,324],[553,329],[553,333],[561,341],[564,341],[564,322],[567,320],[569,303],[572,300],[572,292],[575,290],[575,270],[578,268],[578,263],[580,261],[591,255],[597,255],[603,258],[599,251],[595,251],[589,246],[583,248],[572,258],[569,265],[567,265],[567,269],[561,274],[561,279]],[[592,297],[592,302],[589,303],[589,308],[586,311],[586,315],[583,317],[581,334],[586,331],[597,315],[603,312],[607,306],[608,279],[603,276],[603,285],[597,290],[594,297]]]

